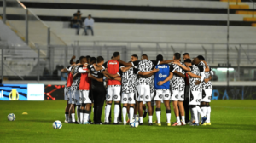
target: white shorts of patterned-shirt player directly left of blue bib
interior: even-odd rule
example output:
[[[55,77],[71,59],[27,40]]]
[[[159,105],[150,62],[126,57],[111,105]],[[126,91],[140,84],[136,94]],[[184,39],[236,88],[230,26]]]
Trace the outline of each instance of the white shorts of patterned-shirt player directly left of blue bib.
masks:
[[[138,102],[150,102],[151,94],[150,94],[150,86],[149,85],[137,85],[137,101]]]

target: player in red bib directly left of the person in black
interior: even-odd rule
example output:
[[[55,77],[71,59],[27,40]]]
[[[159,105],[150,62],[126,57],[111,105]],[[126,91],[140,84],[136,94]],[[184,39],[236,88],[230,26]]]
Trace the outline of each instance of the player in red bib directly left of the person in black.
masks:
[[[79,99],[80,104],[80,124],[90,124],[89,114],[90,114],[90,106],[91,106],[91,97],[89,96],[90,92],[90,78],[88,77],[89,72],[89,64],[88,58],[83,57],[80,60],[81,65],[79,66],[80,73],[80,83],[79,83]],[[86,105],[86,106],[85,106]]]

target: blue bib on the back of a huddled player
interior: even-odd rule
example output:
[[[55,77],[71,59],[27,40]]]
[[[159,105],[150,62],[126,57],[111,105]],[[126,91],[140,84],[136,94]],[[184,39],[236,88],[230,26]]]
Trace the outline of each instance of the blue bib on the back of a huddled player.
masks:
[[[159,72],[154,73],[154,89],[170,89],[170,81],[163,85],[157,85],[158,82],[164,81],[170,75],[170,66],[168,64],[157,65],[155,68]]]

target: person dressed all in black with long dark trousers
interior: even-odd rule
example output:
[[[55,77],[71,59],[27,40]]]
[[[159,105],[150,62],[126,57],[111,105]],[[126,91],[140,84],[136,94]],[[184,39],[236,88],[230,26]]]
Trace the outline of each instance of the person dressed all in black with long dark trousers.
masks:
[[[93,60],[93,58],[91,58]],[[90,65],[89,77],[91,81],[91,93],[94,99],[94,122],[95,124],[102,124],[102,106],[104,105],[104,100],[106,97],[106,89],[103,84],[103,74],[102,71],[96,71],[94,66],[102,66],[104,63],[104,58],[98,56],[96,58],[96,63]]]

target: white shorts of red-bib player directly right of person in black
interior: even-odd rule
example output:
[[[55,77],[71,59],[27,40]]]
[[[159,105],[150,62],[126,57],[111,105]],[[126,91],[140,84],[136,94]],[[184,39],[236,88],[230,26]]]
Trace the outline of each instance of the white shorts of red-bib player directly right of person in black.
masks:
[[[121,91],[121,86],[108,85],[108,93],[107,93],[106,100],[120,101],[121,100],[120,91]]]

